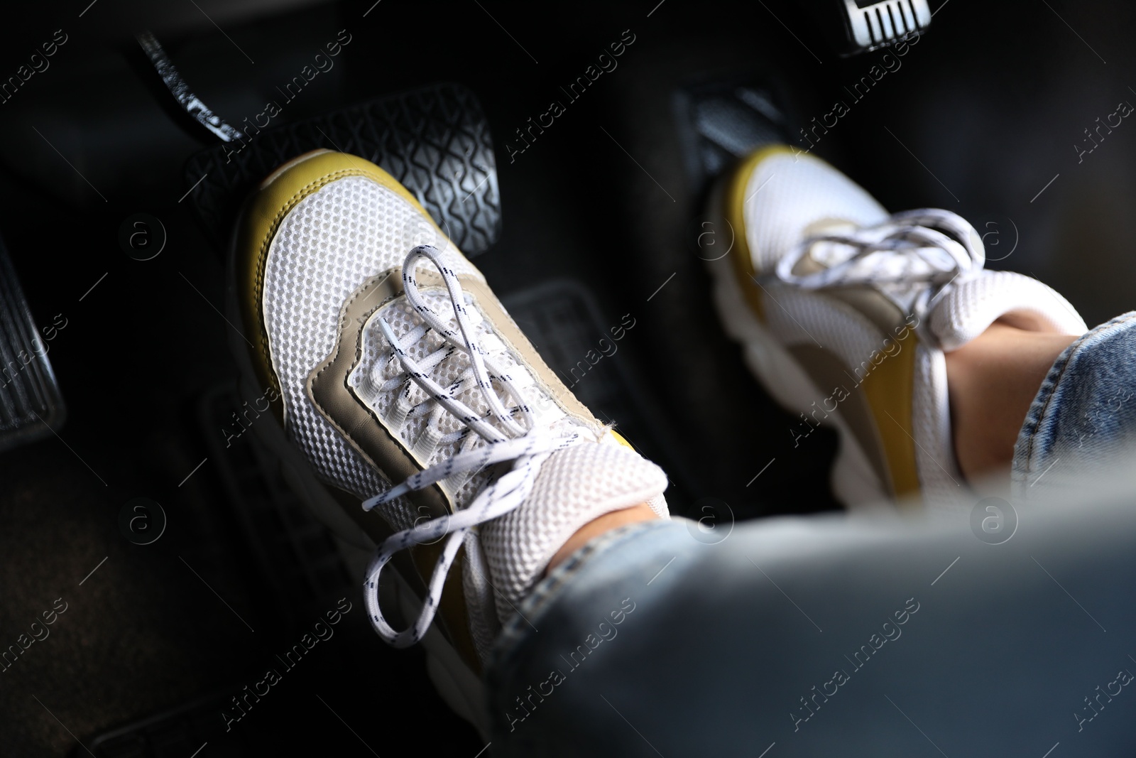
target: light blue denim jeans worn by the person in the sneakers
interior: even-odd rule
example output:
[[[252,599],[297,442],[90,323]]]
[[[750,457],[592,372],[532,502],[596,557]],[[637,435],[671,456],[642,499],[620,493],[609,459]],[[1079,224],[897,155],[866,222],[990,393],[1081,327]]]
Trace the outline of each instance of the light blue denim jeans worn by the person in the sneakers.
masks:
[[[1134,325],[1042,385],[1012,539],[833,515],[590,542],[495,645],[493,755],[1136,755],[1136,497],[1085,484],[1136,436]]]

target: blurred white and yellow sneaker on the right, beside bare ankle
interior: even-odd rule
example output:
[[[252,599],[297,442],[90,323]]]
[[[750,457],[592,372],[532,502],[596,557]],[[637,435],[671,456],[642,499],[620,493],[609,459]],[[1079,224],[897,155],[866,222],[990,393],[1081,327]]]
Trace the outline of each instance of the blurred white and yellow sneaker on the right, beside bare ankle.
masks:
[[[1041,282],[984,270],[982,239],[958,215],[889,215],[788,147],[743,161],[712,205],[736,238],[712,266],[726,327],[770,394],[799,414],[786,431],[794,447],[818,425],[840,432],[833,490],[850,507],[936,506],[960,493],[946,352],[999,318],[1086,330]]]

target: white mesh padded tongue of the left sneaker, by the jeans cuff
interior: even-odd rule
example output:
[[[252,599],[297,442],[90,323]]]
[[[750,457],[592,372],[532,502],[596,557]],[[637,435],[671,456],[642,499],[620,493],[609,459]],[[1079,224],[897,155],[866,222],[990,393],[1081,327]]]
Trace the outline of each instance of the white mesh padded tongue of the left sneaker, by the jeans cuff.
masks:
[[[525,502],[481,527],[499,618],[511,614],[552,556],[588,522],[648,501],[666,517],[659,497],[666,489],[661,468],[610,436],[550,455]]]

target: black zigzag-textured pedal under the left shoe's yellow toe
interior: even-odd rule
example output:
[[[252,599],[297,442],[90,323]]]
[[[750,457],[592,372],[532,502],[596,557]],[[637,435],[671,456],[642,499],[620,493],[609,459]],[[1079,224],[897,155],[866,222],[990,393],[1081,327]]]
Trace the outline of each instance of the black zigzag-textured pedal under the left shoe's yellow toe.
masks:
[[[366,158],[418,198],[469,257],[501,233],[488,123],[473,91],[434,84],[218,144],[185,164],[185,186],[211,241],[225,241],[241,201],[276,167],[326,148]],[[192,189],[191,189],[192,188]]]

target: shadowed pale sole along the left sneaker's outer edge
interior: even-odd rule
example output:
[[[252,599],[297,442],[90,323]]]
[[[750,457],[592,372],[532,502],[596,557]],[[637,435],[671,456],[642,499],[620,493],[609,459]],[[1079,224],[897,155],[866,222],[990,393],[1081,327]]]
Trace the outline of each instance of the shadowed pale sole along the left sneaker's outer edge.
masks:
[[[276,178],[283,169],[307,159],[307,153],[285,164],[274,172],[265,183]],[[264,185],[264,184],[262,184]],[[232,324],[240,324],[240,307],[236,299],[236,252],[229,249],[226,270],[225,309]],[[229,333],[229,351],[236,360],[240,370],[241,397],[257,398],[264,392],[249,355],[245,338],[233,330]],[[273,457],[279,461],[281,474],[296,497],[308,507],[311,514],[335,536],[340,553],[357,576],[364,576],[368,561],[377,547],[374,540],[344,513],[340,502],[327,491],[327,488],[316,477],[307,458],[300,452],[284,433],[284,427],[275,419],[267,424],[256,424],[253,433]],[[376,516],[378,517],[378,516]],[[410,585],[398,570],[390,572],[395,577],[398,602],[406,618],[414,618],[421,609],[421,600],[416,597]],[[360,580],[360,588],[362,581]],[[431,625],[421,640],[426,650],[426,672],[442,700],[478,731],[484,740],[488,740],[486,722],[487,707],[485,686],[481,677],[466,665],[442,633]]]

